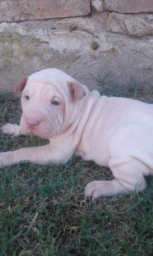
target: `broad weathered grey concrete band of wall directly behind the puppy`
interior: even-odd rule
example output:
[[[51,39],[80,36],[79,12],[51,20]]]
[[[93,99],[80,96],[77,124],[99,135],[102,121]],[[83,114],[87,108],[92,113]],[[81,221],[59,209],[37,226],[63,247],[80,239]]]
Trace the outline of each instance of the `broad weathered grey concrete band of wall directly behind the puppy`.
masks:
[[[96,78],[127,84],[133,76],[152,83],[153,38],[133,39],[108,32],[31,30],[0,25],[0,90],[12,89],[23,76],[56,67],[90,88]]]

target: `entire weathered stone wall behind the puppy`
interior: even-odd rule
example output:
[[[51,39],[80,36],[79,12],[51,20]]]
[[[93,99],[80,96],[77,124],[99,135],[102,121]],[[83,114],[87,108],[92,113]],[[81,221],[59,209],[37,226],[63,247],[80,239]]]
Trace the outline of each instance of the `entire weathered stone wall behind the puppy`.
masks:
[[[92,89],[107,74],[152,84],[153,1],[1,0],[0,90],[49,67]]]

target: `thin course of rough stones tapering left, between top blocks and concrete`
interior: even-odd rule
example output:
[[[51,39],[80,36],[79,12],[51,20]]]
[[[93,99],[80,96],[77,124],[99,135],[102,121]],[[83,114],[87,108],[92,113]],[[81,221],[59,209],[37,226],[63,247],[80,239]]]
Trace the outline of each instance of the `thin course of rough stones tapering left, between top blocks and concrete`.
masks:
[[[153,14],[121,14],[93,11],[92,15],[87,17],[23,21],[20,22],[20,25],[33,31],[53,29],[67,32],[86,31],[91,34],[109,31],[132,37],[143,37],[153,35]]]

